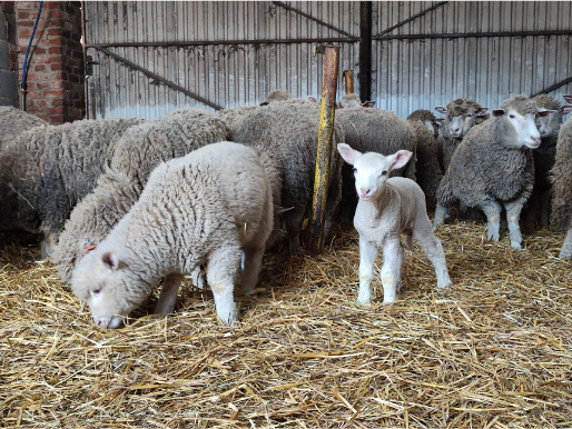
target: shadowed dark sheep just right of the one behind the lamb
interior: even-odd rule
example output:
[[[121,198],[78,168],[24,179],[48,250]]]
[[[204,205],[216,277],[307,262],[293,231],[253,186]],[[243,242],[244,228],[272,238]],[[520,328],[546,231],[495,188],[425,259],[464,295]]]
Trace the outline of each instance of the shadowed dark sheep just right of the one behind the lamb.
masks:
[[[437,203],[437,188],[443,173],[437,157],[437,141],[426,126],[407,119],[415,138],[415,181],[425,193],[425,203],[434,210]]]

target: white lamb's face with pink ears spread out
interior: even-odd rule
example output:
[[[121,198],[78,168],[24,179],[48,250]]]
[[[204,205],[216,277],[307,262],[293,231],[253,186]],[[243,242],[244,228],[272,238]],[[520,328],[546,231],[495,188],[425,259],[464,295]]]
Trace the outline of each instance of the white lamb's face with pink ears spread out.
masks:
[[[408,150],[400,150],[388,157],[375,152],[362,153],[345,143],[339,143],[337,150],[347,163],[354,166],[355,189],[364,201],[378,196],[389,172],[405,166],[412,156]]]

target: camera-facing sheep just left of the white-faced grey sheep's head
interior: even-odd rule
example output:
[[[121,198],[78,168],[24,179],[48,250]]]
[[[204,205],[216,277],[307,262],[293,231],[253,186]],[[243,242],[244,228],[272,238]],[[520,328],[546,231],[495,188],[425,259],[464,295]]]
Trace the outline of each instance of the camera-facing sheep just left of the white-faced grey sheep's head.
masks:
[[[445,116],[441,131],[443,132],[443,171],[446,171],[455,149],[461,144],[463,137],[474,126],[489,119],[489,108],[484,108],[475,100],[457,98],[447,106],[435,106],[437,112]]]

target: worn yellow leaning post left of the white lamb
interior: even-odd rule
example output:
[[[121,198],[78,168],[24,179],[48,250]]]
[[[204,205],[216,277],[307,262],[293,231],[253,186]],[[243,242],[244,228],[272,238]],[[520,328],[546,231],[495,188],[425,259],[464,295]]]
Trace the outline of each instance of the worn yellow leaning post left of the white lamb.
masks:
[[[314,197],[312,201],[312,222],[309,229],[309,251],[313,256],[322,251],[324,241],[324,219],[329,181],[332,137],[334,134],[339,47],[326,46],[325,52],[322,110],[319,112],[318,146],[316,152],[316,173],[314,176]]]

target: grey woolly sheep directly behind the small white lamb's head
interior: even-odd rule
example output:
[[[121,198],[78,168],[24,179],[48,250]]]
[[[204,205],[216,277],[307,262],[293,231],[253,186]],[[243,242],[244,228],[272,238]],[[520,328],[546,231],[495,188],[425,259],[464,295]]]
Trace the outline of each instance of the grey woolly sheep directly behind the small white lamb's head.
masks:
[[[338,109],[336,120],[344,128],[345,143],[362,152],[394,153],[400,149],[413,152],[413,161],[404,168],[394,169],[391,176],[415,179],[415,136],[408,122],[394,112],[381,109]],[[353,218],[357,197],[353,189],[353,174],[349,166],[342,168],[344,203],[341,212],[343,220]]]

